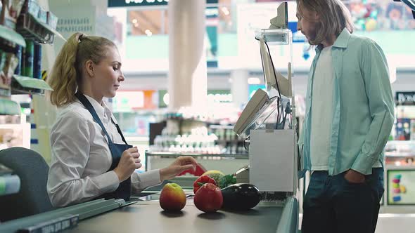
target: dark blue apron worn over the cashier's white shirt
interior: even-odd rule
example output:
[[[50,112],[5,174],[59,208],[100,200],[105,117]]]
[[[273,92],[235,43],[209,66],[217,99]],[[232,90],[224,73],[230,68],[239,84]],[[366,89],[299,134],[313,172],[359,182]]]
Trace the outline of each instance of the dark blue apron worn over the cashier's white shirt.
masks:
[[[106,134],[108,138],[108,147],[110,147],[111,151],[111,157],[113,157],[113,162],[111,163],[110,169],[108,171],[113,171],[114,168],[118,166],[118,163],[120,162],[122,152],[124,152],[126,149],[132,148],[132,145],[128,145],[125,141],[124,135],[122,135],[122,132],[120,130],[120,127],[115,124],[113,119],[111,118],[111,121],[115,126],[117,127],[118,133],[120,133],[122,141],[125,142],[125,144],[115,144],[110,138],[110,135],[108,135],[106,128],[103,126],[101,119],[99,119],[98,114],[96,114],[94,107],[92,107],[91,102],[82,94],[82,93],[75,93],[75,96],[79,99],[79,101],[82,102],[82,105],[84,105],[88,111],[91,113],[92,117],[94,117],[94,120],[96,123],[98,123],[99,126],[101,126],[102,131]],[[120,182],[120,185],[114,192],[108,192],[106,194],[102,194],[101,196],[97,197],[96,199],[125,199],[125,201],[129,200],[129,197],[131,196],[131,177],[127,180],[124,180]]]

